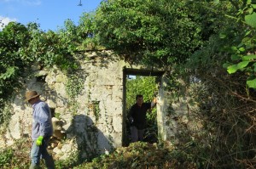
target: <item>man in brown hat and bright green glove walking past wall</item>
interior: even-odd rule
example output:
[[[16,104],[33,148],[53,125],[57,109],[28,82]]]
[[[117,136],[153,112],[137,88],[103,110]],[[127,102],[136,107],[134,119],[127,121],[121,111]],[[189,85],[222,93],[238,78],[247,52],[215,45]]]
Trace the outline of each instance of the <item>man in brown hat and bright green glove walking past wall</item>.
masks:
[[[31,165],[29,169],[40,168],[40,158],[45,161],[48,169],[55,168],[55,162],[51,155],[47,152],[49,138],[53,133],[51,115],[48,104],[39,98],[36,91],[26,92],[26,99],[32,104],[32,149],[31,149]]]

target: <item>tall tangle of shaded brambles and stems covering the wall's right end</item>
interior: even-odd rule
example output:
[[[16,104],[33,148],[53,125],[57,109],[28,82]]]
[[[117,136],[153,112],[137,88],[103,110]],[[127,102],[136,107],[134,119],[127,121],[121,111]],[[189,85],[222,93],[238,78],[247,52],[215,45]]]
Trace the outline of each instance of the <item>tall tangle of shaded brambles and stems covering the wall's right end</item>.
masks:
[[[254,146],[250,140],[254,113],[248,114],[254,112],[255,93],[245,87],[248,80],[252,80],[250,86],[255,85],[255,81],[249,79],[254,74],[255,30],[244,20],[247,8],[251,8],[247,1],[230,2],[236,6],[224,11],[227,17],[222,20],[220,30],[205,42],[204,48],[192,54],[183,67],[187,69],[185,75],[201,80],[187,84],[189,104],[198,108],[190,111],[197,121],[201,121],[201,128],[197,132],[185,129],[188,127],[184,125],[183,134],[177,138],[190,136],[194,147],[187,153],[196,154],[198,158],[194,161],[202,161],[211,168],[255,165],[250,150]]]

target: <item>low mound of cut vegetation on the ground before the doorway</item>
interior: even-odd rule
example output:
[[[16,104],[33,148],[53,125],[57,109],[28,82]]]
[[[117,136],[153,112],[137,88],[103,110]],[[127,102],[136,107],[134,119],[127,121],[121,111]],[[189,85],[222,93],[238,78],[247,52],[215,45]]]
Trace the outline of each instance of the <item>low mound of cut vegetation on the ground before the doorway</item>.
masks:
[[[79,168],[196,168],[183,151],[167,146],[146,144],[142,142],[130,144],[129,147],[117,149],[110,155],[102,155]]]

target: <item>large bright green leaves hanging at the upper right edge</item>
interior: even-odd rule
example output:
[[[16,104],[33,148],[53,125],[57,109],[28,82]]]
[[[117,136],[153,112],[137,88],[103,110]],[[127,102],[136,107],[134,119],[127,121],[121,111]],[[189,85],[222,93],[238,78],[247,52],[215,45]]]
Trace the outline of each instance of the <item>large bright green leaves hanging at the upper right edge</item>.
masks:
[[[243,21],[241,25],[243,31],[237,31],[236,36],[239,40],[234,44],[227,44],[224,48],[226,53],[231,55],[231,60],[223,66],[227,68],[230,74],[236,73],[237,70],[244,72],[247,76],[247,86],[256,88],[254,76],[255,69],[255,50],[256,50],[256,6],[251,1],[247,2],[245,8],[242,8],[237,14],[237,20]],[[224,36],[223,38],[227,38]]]

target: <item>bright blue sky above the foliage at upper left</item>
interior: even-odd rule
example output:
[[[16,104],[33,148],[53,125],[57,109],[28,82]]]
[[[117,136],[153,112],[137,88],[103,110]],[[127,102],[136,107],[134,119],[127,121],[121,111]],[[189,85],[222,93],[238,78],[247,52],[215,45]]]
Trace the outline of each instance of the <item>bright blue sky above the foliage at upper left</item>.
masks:
[[[40,24],[44,31],[56,31],[67,19],[77,25],[84,12],[94,11],[102,0],[0,0],[0,20],[4,24],[15,20],[26,25]],[[1,27],[0,27],[1,30]]]

